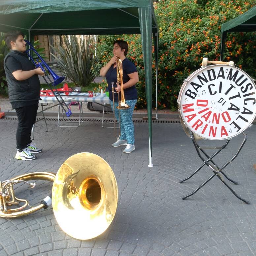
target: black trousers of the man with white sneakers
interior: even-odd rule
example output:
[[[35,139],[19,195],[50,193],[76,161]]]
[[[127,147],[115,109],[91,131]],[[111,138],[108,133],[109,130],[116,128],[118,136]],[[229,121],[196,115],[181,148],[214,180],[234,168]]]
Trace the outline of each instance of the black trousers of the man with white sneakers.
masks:
[[[32,141],[30,139],[33,124],[36,122],[38,103],[15,109],[18,117],[16,132],[17,149],[24,149]]]

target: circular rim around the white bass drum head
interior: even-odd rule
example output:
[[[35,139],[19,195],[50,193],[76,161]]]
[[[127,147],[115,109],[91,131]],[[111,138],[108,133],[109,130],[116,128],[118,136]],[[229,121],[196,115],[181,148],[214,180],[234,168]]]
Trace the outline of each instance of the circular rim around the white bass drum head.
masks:
[[[209,67],[212,67],[212,66],[214,66],[214,67],[216,67],[216,66],[228,66],[228,67],[232,67],[232,68],[239,69],[240,71],[242,71],[244,74],[246,74],[246,75],[250,78],[250,80],[251,80],[251,82],[252,82],[252,85],[254,86],[255,92],[256,92],[256,84],[255,84],[254,80],[253,80],[245,71],[243,71],[242,69],[238,68],[237,66],[230,66],[230,65],[227,65],[227,64],[214,64],[214,65],[208,65],[208,66],[201,67],[201,68],[195,70],[192,74],[190,74],[190,75],[184,80],[183,84],[182,84],[181,87],[180,87],[179,95],[178,95],[178,112],[179,112],[179,119],[180,119],[180,122],[184,122],[184,125],[187,127],[187,129],[188,129],[191,133],[195,134],[196,136],[200,137],[201,139],[204,139],[204,140],[211,140],[211,141],[230,140],[230,139],[232,139],[232,138],[234,138],[234,137],[240,135],[242,132],[244,132],[247,128],[249,128],[249,127],[251,126],[252,122],[254,121],[254,119],[255,119],[255,117],[256,117],[256,112],[255,112],[255,114],[254,114],[254,117],[252,118],[252,121],[251,121],[245,128],[241,129],[241,131],[240,131],[238,134],[233,135],[233,136],[229,136],[229,137],[226,137],[226,138],[223,138],[223,139],[219,139],[219,138],[218,138],[218,139],[207,138],[207,137],[204,137],[204,136],[201,136],[201,135],[195,133],[195,132],[192,131],[192,130],[190,129],[190,127],[187,125],[187,123],[185,122],[185,120],[184,120],[184,118],[183,118],[183,116],[182,116],[182,114],[181,114],[181,107],[180,107],[181,96],[182,96],[182,93],[183,93],[183,91],[184,91],[184,88],[186,87],[187,83],[189,82],[189,78],[191,78],[192,76],[194,77],[197,73],[201,72],[201,71],[204,70],[204,69],[207,69],[207,68],[209,68]],[[256,93],[255,93],[255,94],[256,94]],[[181,126],[182,126],[182,125],[181,125]],[[182,126],[182,128],[183,128],[183,126]],[[183,128],[183,130],[184,130],[184,128]],[[186,133],[185,130],[184,130],[184,132]],[[187,134],[187,133],[186,133],[186,134]],[[187,134],[187,135],[188,135],[188,134]]]

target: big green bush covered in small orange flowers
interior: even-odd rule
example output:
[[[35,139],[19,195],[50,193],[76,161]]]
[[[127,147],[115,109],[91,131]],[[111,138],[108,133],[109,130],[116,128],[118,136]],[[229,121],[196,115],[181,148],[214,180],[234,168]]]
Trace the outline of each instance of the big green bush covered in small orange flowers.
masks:
[[[183,80],[200,68],[203,57],[219,60],[221,25],[249,10],[253,3],[254,0],[159,0],[154,3],[159,25],[158,108],[177,109],[176,100]],[[110,60],[112,42],[118,37],[129,43],[127,57],[137,66],[140,78],[137,107],[143,108],[146,96],[140,35],[100,36],[97,47],[102,64]],[[234,61],[252,78],[256,77],[255,37],[255,32],[228,33],[223,59]],[[152,68],[154,106],[154,56]]]

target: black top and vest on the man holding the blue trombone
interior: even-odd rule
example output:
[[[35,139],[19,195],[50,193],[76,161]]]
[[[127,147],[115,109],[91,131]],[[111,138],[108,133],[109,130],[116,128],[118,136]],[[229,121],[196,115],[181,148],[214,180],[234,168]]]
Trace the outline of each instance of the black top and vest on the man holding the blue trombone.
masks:
[[[38,103],[40,95],[40,81],[38,75],[18,81],[13,76],[17,70],[35,69],[27,54],[11,50],[4,60],[4,68],[9,88],[9,99],[14,109],[30,106]]]

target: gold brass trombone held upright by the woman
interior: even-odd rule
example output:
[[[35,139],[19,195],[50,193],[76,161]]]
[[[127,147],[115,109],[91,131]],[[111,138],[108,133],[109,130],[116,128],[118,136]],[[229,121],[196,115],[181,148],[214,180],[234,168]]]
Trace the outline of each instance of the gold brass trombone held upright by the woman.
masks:
[[[117,83],[121,86],[121,100],[119,96],[119,92],[114,92],[114,83],[112,82],[112,98],[113,98],[113,114],[114,114],[114,135],[116,136],[115,132],[115,101],[114,101],[114,93],[118,94],[118,112],[119,112],[119,138],[121,136],[121,118],[120,118],[120,109],[129,109],[130,106],[125,102],[124,99],[124,88],[123,88],[123,65],[122,61],[119,57],[116,59],[116,73],[117,73]]]

